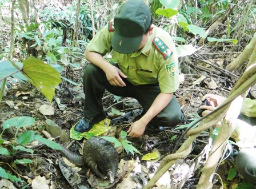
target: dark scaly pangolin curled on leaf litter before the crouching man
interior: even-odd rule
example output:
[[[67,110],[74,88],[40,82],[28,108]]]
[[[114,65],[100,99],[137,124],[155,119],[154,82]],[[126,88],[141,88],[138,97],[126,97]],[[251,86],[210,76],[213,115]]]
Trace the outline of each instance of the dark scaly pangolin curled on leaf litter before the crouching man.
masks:
[[[77,166],[90,167],[98,178],[109,178],[110,183],[114,182],[118,168],[118,152],[109,141],[92,136],[83,147],[83,155],[74,154],[65,147],[62,147],[60,152]]]

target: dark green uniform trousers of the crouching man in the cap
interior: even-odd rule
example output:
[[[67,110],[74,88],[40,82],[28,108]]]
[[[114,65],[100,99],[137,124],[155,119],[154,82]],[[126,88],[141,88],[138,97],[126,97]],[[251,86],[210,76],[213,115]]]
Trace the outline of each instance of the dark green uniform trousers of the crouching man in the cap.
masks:
[[[110,85],[106,74],[101,69],[92,64],[87,65],[83,73],[84,116],[93,118],[103,113],[102,97],[105,90],[117,96],[137,99],[144,112],[149,110],[154,99],[161,93],[157,84],[134,86],[124,78],[123,81],[126,83],[125,87]],[[151,120],[150,124],[153,126],[174,127],[177,126],[182,118],[181,107],[177,99],[173,97],[171,102]]]

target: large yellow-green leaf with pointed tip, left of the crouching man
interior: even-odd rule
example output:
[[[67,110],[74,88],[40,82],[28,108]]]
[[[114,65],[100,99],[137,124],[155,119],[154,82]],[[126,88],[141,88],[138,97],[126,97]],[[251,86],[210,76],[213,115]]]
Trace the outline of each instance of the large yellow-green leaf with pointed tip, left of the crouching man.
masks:
[[[61,83],[58,71],[39,59],[28,58],[23,62],[22,72],[51,102],[55,87]]]

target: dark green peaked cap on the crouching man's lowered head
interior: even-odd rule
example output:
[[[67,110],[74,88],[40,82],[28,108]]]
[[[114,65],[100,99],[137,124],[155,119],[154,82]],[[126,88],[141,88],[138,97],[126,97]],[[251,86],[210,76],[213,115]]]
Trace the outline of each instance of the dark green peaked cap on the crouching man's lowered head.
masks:
[[[150,25],[149,6],[142,0],[128,0],[114,18],[111,45],[118,53],[128,54],[138,50],[143,34]]]

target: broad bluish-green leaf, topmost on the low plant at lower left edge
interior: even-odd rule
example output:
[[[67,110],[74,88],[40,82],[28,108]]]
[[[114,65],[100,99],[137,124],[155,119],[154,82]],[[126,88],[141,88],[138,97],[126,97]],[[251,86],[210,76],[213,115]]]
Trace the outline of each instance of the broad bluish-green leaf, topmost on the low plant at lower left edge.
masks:
[[[17,116],[15,118],[7,119],[3,122],[3,129],[10,127],[26,127],[35,123],[35,119],[30,116]]]

